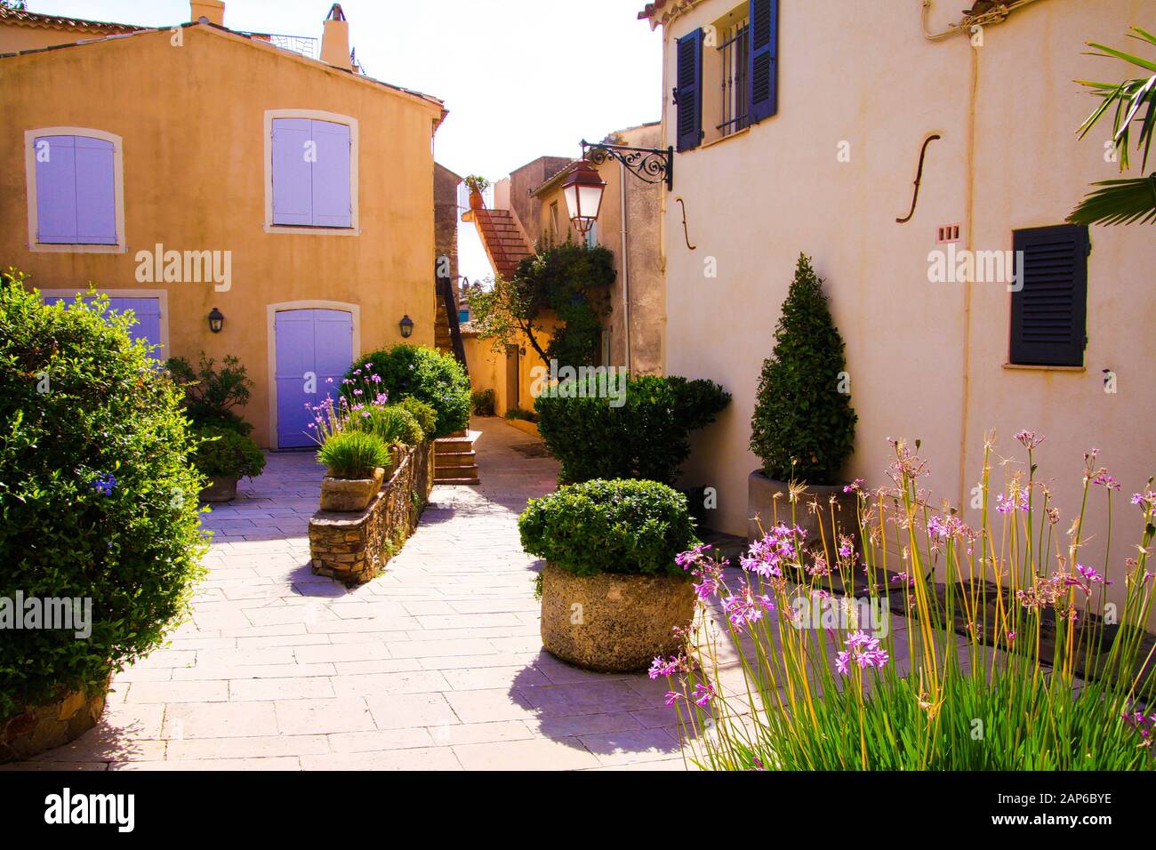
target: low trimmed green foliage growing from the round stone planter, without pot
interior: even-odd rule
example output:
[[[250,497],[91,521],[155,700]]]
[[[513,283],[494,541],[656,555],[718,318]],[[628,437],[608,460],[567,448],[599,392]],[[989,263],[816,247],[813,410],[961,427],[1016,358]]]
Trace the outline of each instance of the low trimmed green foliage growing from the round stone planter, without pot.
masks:
[[[585,481],[529,500],[521,546],[576,576],[686,576],[675,556],[698,542],[681,493],[657,481]]]

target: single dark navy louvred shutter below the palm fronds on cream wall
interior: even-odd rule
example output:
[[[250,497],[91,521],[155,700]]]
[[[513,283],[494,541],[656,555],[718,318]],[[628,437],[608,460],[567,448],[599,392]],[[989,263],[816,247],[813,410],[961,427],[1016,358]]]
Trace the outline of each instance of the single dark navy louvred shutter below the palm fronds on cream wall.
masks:
[[[1015,257],[1023,252],[1023,287],[1011,293],[1011,362],[1083,365],[1088,228],[1016,230],[1011,245]]]

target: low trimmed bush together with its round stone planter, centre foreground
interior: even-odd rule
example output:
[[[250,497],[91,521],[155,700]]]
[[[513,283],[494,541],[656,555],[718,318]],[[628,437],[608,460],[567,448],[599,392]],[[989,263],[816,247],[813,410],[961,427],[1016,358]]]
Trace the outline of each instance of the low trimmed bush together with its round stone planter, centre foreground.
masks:
[[[676,651],[694,618],[675,556],[697,544],[686,497],[657,481],[595,479],[533,498],[518,520],[542,569],[542,645],[598,671]]]

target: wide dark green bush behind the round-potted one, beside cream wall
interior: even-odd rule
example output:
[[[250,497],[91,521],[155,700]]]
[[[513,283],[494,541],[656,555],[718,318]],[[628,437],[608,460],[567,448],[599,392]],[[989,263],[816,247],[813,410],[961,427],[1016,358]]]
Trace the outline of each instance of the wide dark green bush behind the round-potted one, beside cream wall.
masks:
[[[596,379],[564,382],[534,401],[538,430],[562,464],[561,480],[637,478],[673,483],[690,456],[690,431],[714,421],[731,396],[710,380],[644,375],[625,402],[596,398]]]

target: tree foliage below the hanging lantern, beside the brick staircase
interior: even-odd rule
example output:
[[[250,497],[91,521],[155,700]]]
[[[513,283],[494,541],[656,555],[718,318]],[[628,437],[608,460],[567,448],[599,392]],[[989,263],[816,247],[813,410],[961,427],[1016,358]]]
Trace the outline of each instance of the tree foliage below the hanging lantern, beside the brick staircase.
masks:
[[[470,324],[483,339],[494,340],[496,350],[525,338],[543,362],[592,365],[615,274],[614,254],[601,245],[539,244],[518,265],[512,280],[498,278],[492,288],[470,293]],[[541,321],[547,313],[556,323],[542,348],[538,334],[544,331]]]

